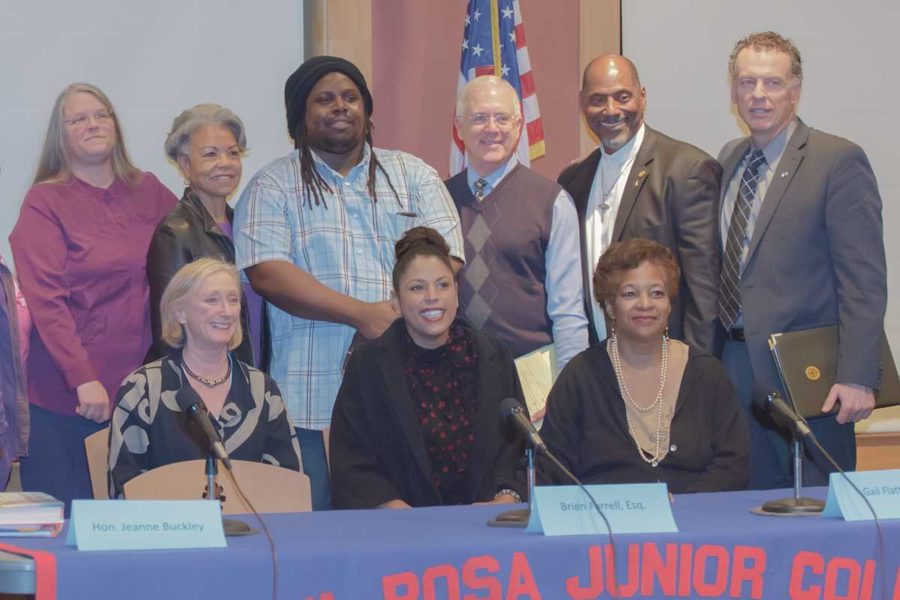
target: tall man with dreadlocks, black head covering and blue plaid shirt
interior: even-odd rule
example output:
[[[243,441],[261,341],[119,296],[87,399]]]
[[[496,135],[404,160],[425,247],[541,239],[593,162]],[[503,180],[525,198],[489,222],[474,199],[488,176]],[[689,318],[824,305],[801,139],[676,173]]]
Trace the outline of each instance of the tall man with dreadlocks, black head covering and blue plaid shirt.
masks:
[[[269,372],[297,427],[313,508],[328,508],[321,430],[356,332],[381,335],[394,242],[418,225],[462,257],[459,217],[434,169],[372,145],[372,96],[352,63],[305,61],[284,89],[295,150],[263,167],[235,209],[237,266],[269,301]]]

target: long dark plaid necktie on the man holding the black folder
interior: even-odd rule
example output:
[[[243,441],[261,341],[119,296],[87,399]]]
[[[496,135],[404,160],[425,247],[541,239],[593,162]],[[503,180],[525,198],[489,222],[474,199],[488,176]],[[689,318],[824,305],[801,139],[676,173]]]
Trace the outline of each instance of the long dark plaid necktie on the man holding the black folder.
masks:
[[[741,272],[743,270],[744,244],[747,241],[747,224],[756,200],[759,170],[766,164],[762,150],[756,149],[747,159],[747,168],[741,176],[737,201],[728,226],[725,255],[722,257],[722,281],[719,286],[719,319],[725,329],[734,327],[741,314]]]

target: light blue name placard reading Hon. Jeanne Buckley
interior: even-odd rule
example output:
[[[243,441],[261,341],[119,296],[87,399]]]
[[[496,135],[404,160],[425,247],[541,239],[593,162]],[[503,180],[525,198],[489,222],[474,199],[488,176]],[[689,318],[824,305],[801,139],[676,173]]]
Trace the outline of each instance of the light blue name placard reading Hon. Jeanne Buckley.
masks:
[[[79,550],[226,546],[215,500],[73,500],[66,544]]]

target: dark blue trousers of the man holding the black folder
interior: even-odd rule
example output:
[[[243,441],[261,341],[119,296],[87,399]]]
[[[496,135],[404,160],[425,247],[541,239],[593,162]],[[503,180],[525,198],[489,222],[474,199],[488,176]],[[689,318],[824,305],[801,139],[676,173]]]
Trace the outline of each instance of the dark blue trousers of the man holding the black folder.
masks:
[[[726,340],[722,364],[737,388],[750,425],[750,483],[755,490],[794,485],[791,432],[777,425],[766,412],[764,398],[754,398],[753,368],[747,344]],[[781,390],[781,385],[776,388]],[[773,390],[774,391],[774,390]],[[783,390],[782,395],[783,395]],[[822,398],[825,402],[825,398]],[[844,470],[856,468],[856,437],[853,424],[840,425],[834,417],[810,419],[810,429]],[[809,442],[803,444],[803,485],[828,485],[828,474],[836,469]]]

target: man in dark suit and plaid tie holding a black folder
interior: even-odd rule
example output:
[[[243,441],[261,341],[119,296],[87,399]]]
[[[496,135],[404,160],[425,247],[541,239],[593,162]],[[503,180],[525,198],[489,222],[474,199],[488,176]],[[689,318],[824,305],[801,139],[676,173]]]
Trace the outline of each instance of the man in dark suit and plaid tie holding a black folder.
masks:
[[[863,150],[797,118],[800,53],[772,32],[742,39],[729,63],[731,97],[750,136],[719,154],[722,354],[750,413],[755,488],[791,485],[787,432],[761,410],[782,389],[770,334],[839,328],[837,382],[810,421],[844,469],[856,463],[853,422],[869,415],[878,381],[887,282],[881,198]],[[804,480],[827,483],[832,468],[817,452]]]

